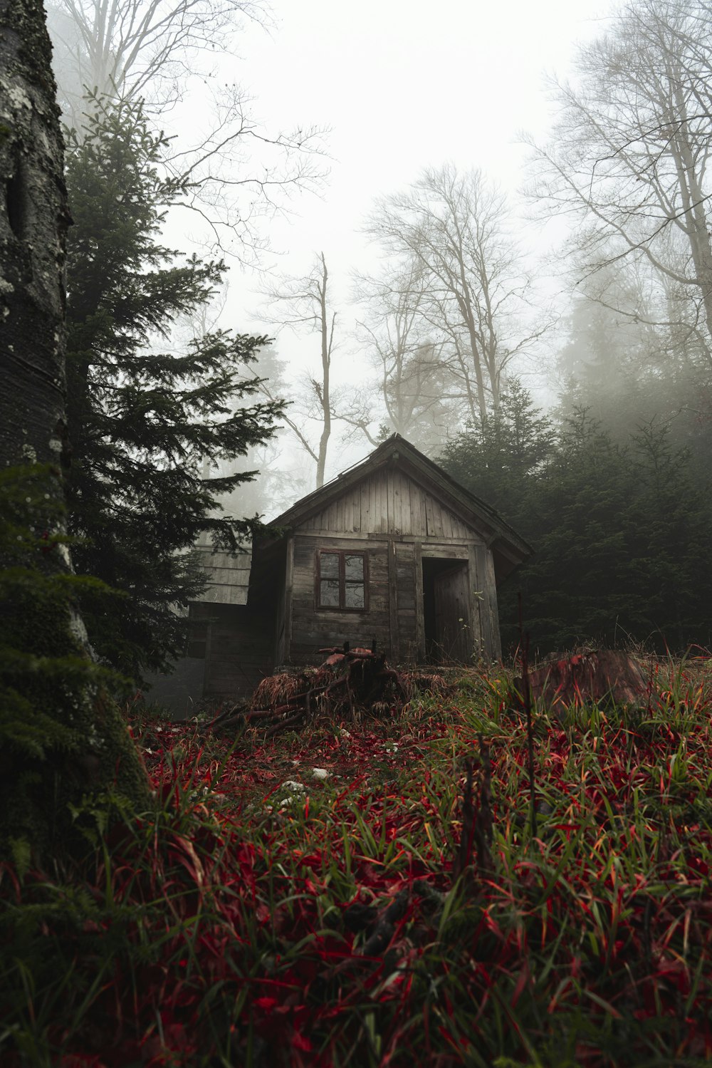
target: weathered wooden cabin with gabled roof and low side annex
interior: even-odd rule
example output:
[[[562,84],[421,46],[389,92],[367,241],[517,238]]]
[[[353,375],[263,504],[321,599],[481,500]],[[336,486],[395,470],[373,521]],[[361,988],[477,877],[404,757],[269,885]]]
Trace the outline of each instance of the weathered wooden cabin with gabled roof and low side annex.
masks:
[[[376,642],[394,663],[501,657],[496,585],[532,550],[400,436],[270,531],[251,554],[203,550],[210,585],[190,608],[187,658],[202,661],[200,697],[240,698],[275,668],[318,663],[319,648],[344,642]]]

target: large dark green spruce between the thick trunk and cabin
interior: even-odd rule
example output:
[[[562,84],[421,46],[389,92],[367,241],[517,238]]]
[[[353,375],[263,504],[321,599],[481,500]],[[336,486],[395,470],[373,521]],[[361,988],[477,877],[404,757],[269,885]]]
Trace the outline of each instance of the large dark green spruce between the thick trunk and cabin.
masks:
[[[179,263],[158,240],[187,184],[165,174],[167,140],[141,105],[90,107],[88,131],[67,146],[73,555],[79,571],[126,595],[110,611],[88,602],[84,617],[99,656],[140,678],[181,650],[172,606],[203,590],[190,552],[197,536],[235,549],[255,525],[219,516],[218,503],[251,472],[204,478],[203,465],[265,442],[281,406],[252,403],[250,365],[267,339],[215,331],[181,351],[171,345],[176,317],[209,300],[224,265]]]

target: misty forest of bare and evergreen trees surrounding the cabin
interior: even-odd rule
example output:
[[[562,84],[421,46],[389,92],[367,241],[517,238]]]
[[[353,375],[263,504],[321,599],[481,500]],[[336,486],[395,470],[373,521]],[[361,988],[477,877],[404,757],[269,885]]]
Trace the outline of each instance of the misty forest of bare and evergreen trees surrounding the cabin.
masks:
[[[519,591],[541,654],[709,647],[709,4],[618,7],[550,83],[521,194],[488,176],[486,145],[469,169],[423,169],[361,220],[369,266],[339,286],[319,249],[305,274],[268,251],[275,213],[328,198],[328,131],[264,128],[228,82],[180,120],[266,6],[54,0],[48,16],[74,218],[75,557],[125,594],[88,608],[107,661],[165,665],[171,606],[201,590],[186,550],[236,545],[394,431],[534,547],[501,591],[505,647]],[[537,257],[522,233],[552,220]],[[262,335],[235,320],[233,279]]]

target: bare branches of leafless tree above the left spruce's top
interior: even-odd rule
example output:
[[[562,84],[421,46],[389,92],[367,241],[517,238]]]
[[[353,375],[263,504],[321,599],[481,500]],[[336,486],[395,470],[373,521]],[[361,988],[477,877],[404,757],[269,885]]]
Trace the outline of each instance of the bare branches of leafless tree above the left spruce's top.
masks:
[[[190,78],[210,74],[195,66],[199,52],[215,58],[241,16],[260,20],[265,11],[262,0],[53,0],[54,69],[67,125],[85,127],[88,93],[97,101],[142,97],[160,114]],[[253,265],[268,248],[258,220],[285,210],[295,191],[320,187],[326,172],[315,157],[323,131],[270,136],[240,85],[210,83],[206,92],[207,132],[163,163],[186,189],[178,206],[200,217],[207,244]]]

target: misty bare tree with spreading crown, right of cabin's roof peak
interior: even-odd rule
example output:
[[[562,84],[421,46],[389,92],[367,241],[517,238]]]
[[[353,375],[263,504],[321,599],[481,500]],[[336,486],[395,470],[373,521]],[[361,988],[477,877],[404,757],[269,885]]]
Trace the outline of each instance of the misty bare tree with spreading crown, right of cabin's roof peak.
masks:
[[[532,325],[532,283],[507,216],[505,198],[480,171],[446,164],[378,201],[366,226],[389,253],[422,268],[423,316],[447,343],[452,374],[477,421],[499,407],[509,363],[549,326]]]

